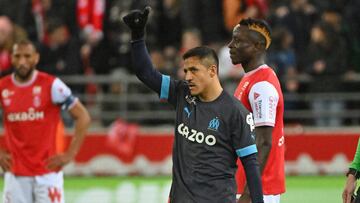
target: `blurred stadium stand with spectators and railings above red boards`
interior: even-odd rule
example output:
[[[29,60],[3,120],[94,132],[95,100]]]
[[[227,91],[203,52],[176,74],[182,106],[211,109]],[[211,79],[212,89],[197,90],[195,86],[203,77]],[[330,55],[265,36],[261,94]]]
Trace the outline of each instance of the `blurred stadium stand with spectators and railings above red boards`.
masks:
[[[59,76],[86,104],[92,128],[117,118],[144,127],[172,126],[174,111],[131,73],[130,33],[121,17],[153,10],[147,45],[154,66],[182,77],[181,55],[214,48],[220,77],[233,92],[243,71],[231,64],[232,28],[247,17],[273,29],[267,61],[280,78],[287,126],[360,124],[360,1],[358,0],[37,0],[0,1],[0,76],[11,72],[11,47],[34,41],[38,69]],[[206,16],[206,17],[204,17]],[[63,114],[67,127],[69,116]]]

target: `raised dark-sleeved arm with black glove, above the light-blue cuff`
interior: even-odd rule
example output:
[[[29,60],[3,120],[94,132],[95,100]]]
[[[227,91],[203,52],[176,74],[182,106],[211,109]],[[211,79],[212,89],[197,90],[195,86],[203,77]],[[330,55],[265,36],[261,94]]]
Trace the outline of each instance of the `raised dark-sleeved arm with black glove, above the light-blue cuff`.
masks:
[[[131,30],[132,65],[136,76],[149,88],[160,94],[163,76],[152,65],[146,49],[144,35],[150,7],[133,10],[123,20]]]

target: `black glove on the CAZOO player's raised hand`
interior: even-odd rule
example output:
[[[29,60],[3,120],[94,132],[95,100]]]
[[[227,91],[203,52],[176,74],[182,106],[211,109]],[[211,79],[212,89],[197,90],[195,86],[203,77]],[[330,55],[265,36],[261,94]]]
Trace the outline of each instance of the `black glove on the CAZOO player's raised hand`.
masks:
[[[145,35],[145,26],[151,7],[146,6],[143,11],[133,10],[123,17],[123,21],[131,30],[132,40],[141,39]]]

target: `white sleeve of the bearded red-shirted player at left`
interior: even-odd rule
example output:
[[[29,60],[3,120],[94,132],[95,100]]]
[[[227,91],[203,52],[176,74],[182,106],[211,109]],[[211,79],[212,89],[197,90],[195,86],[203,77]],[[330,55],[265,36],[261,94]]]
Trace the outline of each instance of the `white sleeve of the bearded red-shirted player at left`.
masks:
[[[62,109],[71,109],[77,101],[71,93],[71,89],[59,78],[56,78],[51,86],[51,100],[54,104],[60,105]]]

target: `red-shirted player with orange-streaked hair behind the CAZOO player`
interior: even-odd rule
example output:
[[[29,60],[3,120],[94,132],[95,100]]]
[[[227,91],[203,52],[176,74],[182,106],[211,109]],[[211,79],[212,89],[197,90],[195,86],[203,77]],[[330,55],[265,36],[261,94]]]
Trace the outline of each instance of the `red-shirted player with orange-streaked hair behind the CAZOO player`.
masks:
[[[284,100],[275,72],[265,64],[270,43],[270,27],[265,21],[245,19],[235,26],[229,48],[233,64],[241,64],[246,72],[234,96],[254,116],[264,201],[278,203],[280,194],[285,192]],[[237,183],[242,194],[239,202],[249,202],[241,167]]]

